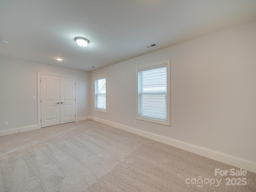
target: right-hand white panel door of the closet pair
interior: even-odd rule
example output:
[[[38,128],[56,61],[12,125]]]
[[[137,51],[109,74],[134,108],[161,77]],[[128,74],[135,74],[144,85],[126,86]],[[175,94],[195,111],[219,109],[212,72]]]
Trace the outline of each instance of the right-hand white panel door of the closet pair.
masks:
[[[60,124],[76,120],[75,78],[60,77]]]

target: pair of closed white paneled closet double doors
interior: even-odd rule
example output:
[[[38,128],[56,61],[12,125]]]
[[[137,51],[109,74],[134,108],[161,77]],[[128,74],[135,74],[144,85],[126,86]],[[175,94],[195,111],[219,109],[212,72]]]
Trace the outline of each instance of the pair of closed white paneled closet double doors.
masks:
[[[41,127],[76,120],[75,78],[41,74]]]

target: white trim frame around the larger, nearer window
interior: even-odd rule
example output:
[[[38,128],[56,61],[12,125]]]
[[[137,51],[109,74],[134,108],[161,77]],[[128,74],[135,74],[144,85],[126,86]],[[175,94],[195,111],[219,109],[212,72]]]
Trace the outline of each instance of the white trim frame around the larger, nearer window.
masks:
[[[167,86],[167,90],[166,90],[166,121],[160,121],[160,120],[154,120],[151,118],[145,118],[145,117],[140,117],[138,115],[138,72],[141,71],[141,69],[143,68],[149,68],[149,67],[154,67],[154,66],[160,66],[162,64],[166,64],[166,72],[167,72],[167,79],[166,79],[166,86]],[[152,63],[152,64],[147,64],[147,65],[143,65],[143,66],[138,66],[136,67],[136,120],[142,120],[142,121],[146,121],[146,122],[152,122],[152,123],[156,123],[156,124],[162,124],[162,125],[166,125],[166,126],[170,126],[170,104],[171,104],[171,98],[170,98],[170,59],[168,60],[164,60],[164,61],[160,61],[160,62],[156,62],[156,63]]]

